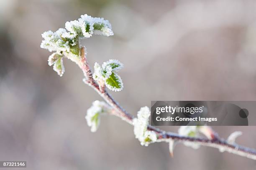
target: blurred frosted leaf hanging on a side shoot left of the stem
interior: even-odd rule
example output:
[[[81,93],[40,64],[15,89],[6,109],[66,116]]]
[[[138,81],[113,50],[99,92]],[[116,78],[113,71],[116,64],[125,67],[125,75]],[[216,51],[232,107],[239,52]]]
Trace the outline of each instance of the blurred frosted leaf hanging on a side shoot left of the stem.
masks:
[[[105,102],[98,100],[92,102],[92,106],[87,110],[85,119],[88,126],[91,127],[91,132],[96,132],[100,125],[100,115],[110,112],[111,107]]]

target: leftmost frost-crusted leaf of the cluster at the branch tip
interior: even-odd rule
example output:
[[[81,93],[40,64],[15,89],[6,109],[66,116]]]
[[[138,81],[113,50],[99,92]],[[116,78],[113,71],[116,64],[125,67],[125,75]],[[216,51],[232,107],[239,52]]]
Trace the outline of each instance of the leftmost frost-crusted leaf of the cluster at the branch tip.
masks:
[[[42,40],[40,47],[51,51],[67,51],[69,52],[69,42],[61,38],[66,30],[64,28],[59,28],[56,32],[46,31],[42,34],[44,40]]]

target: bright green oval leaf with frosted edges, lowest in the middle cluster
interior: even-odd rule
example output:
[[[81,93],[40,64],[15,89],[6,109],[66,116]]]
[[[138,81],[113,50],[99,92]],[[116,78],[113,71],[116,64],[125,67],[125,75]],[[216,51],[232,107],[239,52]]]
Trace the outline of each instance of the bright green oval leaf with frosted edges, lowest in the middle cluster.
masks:
[[[112,91],[121,91],[123,89],[123,81],[119,75],[112,72],[110,77],[105,80],[106,86]]]

